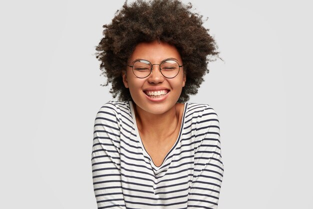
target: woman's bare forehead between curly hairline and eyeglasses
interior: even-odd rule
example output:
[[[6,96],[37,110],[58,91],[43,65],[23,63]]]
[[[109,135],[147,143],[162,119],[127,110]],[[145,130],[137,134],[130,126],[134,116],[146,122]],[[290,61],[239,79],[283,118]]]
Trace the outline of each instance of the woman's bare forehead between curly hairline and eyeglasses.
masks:
[[[166,42],[153,41],[139,43],[129,60],[143,59],[151,63],[158,63],[167,58],[174,58],[181,63],[181,57],[175,46]]]

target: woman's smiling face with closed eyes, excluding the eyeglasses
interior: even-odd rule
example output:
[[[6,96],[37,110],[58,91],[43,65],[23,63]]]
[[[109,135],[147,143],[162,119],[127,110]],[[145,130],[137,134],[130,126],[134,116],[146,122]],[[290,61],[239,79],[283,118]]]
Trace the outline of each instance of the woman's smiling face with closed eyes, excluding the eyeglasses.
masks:
[[[179,65],[182,65],[181,57],[174,46],[157,41],[140,43],[130,56],[128,65],[132,65],[138,59],[147,60],[151,64],[160,64],[168,58],[176,60]],[[165,78],[160,73],[158,65],[153,65],[151,74],[146,78],[137,78],[132,73],[131,67],[127,67],[126,72],[122,73],[122,77],[124,86],[129,88],[137,111],[146,111],[152,114],[162,114],[173,108],[186,81],[182,67],[176,77]]]

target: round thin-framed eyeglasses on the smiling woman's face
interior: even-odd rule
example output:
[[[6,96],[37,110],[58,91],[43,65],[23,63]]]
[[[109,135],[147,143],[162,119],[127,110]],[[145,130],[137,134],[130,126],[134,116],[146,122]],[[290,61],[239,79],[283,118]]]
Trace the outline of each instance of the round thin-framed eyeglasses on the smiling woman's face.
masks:
[[[161,64],[151,64],[147,60],[136,60],[132,65],[127,66],[132,68],[132,72],[136,77],[146,78],[151,74],[153,65],[159,66],[159,71],[165,78],[174,78],[178,75],[179,68],[182,67],[175,60],[164,60]]]

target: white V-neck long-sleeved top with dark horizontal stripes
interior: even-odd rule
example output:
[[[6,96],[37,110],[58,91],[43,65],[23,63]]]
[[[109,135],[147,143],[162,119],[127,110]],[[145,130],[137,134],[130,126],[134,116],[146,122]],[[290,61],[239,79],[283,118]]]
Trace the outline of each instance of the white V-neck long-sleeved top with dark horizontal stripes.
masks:
[[[133,108],[131,101],[110,101],[96,115],[91,163],[97,207],[217,208],[223,164],[215,111],[185,103],[176,142],[157,167]]]

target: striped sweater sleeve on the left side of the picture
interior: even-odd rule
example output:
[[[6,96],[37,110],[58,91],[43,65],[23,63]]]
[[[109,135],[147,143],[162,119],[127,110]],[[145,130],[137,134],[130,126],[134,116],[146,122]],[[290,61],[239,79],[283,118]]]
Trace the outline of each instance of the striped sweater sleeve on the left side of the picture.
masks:
[[[125,208],[120,174],[120,119],[114,103],[104,104],[94,121],[91,154],[93,190],[100,208]]]

